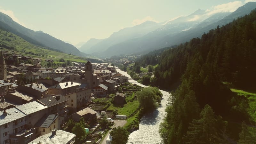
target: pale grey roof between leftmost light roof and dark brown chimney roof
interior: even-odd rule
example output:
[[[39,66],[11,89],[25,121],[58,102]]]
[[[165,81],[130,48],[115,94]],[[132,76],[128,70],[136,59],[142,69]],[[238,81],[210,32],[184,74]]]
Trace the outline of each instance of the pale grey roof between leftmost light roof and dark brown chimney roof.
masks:
[[[24,114],[30,115],[32,113],[35,113],[48,107],[42,105],[41,103],[38,103],[37,101],[32,101],[20,106],[16,106],[16,108],[22,111]]]

